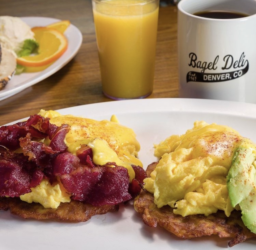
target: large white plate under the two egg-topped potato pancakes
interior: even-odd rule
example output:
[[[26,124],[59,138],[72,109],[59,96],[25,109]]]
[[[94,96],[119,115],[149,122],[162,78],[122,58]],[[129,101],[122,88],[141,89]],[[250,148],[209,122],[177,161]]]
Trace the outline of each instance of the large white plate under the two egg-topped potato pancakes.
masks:
[[[110,101],[61,109],[96,120],[116,114],[120,123],[134,129],[141,144],[139,158],[144,167],[156,160],[153,144],[171,134],[183,134],[195,120],[228,125],[256,141],[256,105],[200,99],[144,99]],[[216,236],[181,240],[163,229],[142,222],[132,204],[117,213],[96,215],[86,223],[59,223],[19,219],[0,211],[0,242],[4,250],[82,249],[227,249],[228,240]],[[232,249],[255,249],[247,240]]]

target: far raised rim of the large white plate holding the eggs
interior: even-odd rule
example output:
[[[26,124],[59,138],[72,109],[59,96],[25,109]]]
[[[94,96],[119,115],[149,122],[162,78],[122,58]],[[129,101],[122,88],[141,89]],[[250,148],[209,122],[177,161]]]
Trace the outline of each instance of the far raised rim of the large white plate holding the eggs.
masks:
[[[116,105],[121,103],[121,105]],[[96,119],[94,117],[102,117],[102,114],[96,115],[101,111],[102,107],[108,106],[108,111],[104,116],[110,119],[110,116],[118,114],[129,113],[141,113],[141,112],[198,112],[198,105],[201,105],[202,110],[200,113],[212,113],[212,114],[227,114],[237,117],[253,118],[256,119],[256,104],[229,101],[229,100],[215,100],[215,99],[200,99],[200,98],[179,98],[179,97],[165,97],[165,98],[145,98],[145,99],[129,99],[129,100],[109,100],[103,102],[82,104],[76,106],[70,106],[61,109],[54,109],[62,115],[71,114],[73,110],[83,109],[86,110],[82,117]],[[139,108],[138,108],[139,105]],[[147,109],[148,105],[151,106],[151,110]],[[159,110],[159,105],[161,110]],[[171,105],[171,106],[168,106]],[[123,107],[128,106],[129,110],[124,110]],[[223,109],[225,106],[226,109]],[[42,108],[43,109],[43,108]],[[46,109],[45,109],[46,110]],[[111,110],[111,111],[110,111]],[[40,110],[38,110],[39,112]],[[70,113],[71,111],[71,113]],[[79,112],[78,112],[79,113]],[[33,115],[33,114],[30,114]],[[81,116],[81,115],[80,115]],[[23,117],[21,119],[11,121],[4,125],[11,125],[13,123],[24,121],[29,117]],[[3,125],[0,125],[3,126]]]

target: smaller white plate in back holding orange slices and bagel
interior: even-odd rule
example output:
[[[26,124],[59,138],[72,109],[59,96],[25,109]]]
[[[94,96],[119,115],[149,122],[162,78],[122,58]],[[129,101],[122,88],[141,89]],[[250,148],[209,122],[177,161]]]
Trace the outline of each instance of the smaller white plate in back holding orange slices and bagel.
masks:
[[[22,17],[21,19],[31,27],[46,26],[48,24],[60,21],[59,19],[48,17]],[[68,48],[65,53],[51,66],[43,71],[35,73],[22,73],[20,75],[13,76],[6,87],[0,91],[0,100],[13,96],[25,88],[28,88],[53,75],[55,72],[64,67],[77,54],[83,40],[81,32],[73,24],[70,24],[64,34],[68,39]]]

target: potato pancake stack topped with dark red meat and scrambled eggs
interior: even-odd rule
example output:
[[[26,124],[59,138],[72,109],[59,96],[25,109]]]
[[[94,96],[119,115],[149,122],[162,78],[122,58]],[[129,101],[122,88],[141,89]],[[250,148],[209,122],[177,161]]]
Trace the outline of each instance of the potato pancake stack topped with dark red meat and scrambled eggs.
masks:
[[[136,197],[146,177],[132,129],[41,110],[0,128],[0,209],[87,221]]]

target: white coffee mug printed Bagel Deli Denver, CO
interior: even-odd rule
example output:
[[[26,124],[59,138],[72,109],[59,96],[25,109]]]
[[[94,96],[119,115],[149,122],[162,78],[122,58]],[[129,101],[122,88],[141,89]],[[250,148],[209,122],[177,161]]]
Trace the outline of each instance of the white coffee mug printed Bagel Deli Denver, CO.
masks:
[[[208,11],[248,16],[216,19],[195,15]],[[180,97],[256,103],[255,13],[255,0],[179,2]]]

